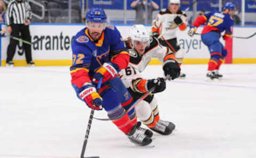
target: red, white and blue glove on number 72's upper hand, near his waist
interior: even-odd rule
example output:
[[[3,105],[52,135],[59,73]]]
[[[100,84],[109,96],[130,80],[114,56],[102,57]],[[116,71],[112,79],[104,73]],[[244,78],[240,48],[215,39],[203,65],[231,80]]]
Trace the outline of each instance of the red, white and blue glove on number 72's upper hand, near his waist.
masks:
[[[93,82],[98,83],[100,78],[103,77],[102,83],[115,78],[117,71],[119,70],[118,66],[112,62],[104,63],[94,74]]]

